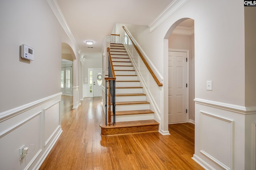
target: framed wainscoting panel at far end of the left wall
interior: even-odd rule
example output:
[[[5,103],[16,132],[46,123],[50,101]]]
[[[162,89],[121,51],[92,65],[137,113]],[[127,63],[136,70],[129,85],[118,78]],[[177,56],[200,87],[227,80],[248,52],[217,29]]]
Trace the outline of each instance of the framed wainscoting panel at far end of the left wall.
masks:
[[[56,131],[60,128],[61,113],[60,101],[44,109],[44,147],[52,139]]]

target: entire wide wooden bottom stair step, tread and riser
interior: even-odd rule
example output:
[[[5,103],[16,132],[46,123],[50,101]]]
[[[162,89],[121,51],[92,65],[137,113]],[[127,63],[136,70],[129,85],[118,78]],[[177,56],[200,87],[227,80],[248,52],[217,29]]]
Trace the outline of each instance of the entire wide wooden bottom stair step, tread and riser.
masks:
[[[116,122],[116,125],[106,126],[101,123],[101,135],[125,135],[130,133],[146,133],[157,132],[159,123],[155,120],[142,120],[142,121],[124,121]]]

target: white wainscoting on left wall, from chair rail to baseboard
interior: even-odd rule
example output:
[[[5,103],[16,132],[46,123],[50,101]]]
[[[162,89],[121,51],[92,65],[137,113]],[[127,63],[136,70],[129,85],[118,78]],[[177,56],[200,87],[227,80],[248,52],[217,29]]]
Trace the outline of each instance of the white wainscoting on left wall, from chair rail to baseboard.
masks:
[[[61,94],[0,113],[0,169],[38,169],[62,133]],[[20,158],[20,148],[28,154]]]

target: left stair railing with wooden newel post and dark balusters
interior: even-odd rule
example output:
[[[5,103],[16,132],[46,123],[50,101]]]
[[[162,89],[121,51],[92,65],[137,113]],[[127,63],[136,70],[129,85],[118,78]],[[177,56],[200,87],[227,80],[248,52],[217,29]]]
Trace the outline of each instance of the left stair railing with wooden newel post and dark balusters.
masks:
[[[108,51],[108,77],[105,78],[106,81],[106,89],[108,94],[106,94],[106,111],[108,112],[105,115],[105,123],[106,126],[111,126],[111,122],[113,126],[116,123],[116,75],[114,72],[114,66],[112,63],[111,55],[110,55],[110,48],[107,48]],[[108,100],[107,100],[108,96]],[[113,120],[111,119],[111,104],[112,104],[112,112],[113,112]],[[108,106],[108,109],[107,109]]]

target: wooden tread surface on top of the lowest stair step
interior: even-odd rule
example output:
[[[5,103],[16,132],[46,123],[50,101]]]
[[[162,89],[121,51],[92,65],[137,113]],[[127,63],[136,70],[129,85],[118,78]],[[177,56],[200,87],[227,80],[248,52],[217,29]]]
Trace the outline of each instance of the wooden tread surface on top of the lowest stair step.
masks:
[[[121,121],[116,122],[114,126],[106,126],[104,123],[100,124],[103,128],[119,128],[119,127],[135,127],[135,126],[148,126],[148,125],[159,125],[155,120],[139,120],[139,121]]]

